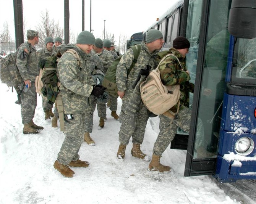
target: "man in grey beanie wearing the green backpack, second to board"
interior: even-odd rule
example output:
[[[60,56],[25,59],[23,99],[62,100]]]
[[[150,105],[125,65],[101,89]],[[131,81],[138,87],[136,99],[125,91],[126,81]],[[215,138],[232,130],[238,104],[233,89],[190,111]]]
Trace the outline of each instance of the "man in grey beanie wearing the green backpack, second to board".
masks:
[[[141,51],[133,69],[127,75],[127,70],[133,63],[133,50],[129,49],[120,59],[117,65],[116,80],[118,95],[123,100],[120,113],[120,145],[117,152],[117,159],[122,161],[125,157],[126,145],[132,137],[133,148],[131,155],[144,161],[150,158],[141,152],[140,145],[143,142],[149,111],[140,98],[139,82],[133,89],[134,82],[138,78],[141,69],[150,66],[150,70],[157,67],[156,56],[164,43],[163,35],[158,30],[150,30],[146,35],[146,42],[141,43]],[[141,77],[143,80],[144,77]]]

